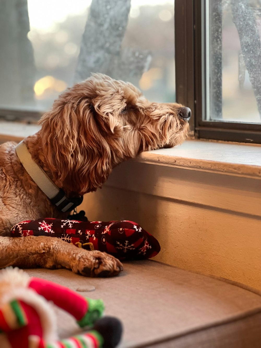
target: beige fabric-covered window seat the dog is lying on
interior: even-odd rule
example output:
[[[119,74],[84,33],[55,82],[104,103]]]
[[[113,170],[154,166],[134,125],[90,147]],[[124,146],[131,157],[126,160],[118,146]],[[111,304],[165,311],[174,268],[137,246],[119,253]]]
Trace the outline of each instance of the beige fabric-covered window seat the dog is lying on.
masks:
[[[69,270],[26,270],[105,302],[105,314],[121,319],[119,347],[260,348],[261,295],[229,280],[156,261],[124,263],[114,278],[84,278]],[[56,309],[60,338],[79,333]]]

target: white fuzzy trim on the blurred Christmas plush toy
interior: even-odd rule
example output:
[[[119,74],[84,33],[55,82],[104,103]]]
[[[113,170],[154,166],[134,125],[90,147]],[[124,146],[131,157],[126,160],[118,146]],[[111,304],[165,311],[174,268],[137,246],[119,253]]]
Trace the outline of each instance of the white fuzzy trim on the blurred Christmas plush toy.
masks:
[[[57,323],[50,303],[33,289],[27,287],[30,277],[22,270],[5,269],[0,274],[0,307],[12,300],[21,300],[32,306],[38,313],[43,338],[47,341],[57,340]]]

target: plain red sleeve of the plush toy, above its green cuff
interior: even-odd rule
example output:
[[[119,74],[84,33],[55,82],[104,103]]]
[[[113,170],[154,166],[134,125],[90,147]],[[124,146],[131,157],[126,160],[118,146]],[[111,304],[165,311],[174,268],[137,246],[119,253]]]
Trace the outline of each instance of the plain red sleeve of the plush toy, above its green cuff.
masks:
[[[56,306],[70,313],[77,321],[81,320],[88,311],[87,300],[65,286],[45,279],[31,278],[29,287],[44,296],[46,300],[53,301]]]

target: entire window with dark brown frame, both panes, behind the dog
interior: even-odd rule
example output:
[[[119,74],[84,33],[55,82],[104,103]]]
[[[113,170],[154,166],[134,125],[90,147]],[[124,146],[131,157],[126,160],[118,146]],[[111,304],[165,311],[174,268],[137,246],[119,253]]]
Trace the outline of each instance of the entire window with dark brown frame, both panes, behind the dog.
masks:
[[[12,0],[0,26],[0,117],[103,72],[189,106],[199,139],[261,143],[261,0]]]

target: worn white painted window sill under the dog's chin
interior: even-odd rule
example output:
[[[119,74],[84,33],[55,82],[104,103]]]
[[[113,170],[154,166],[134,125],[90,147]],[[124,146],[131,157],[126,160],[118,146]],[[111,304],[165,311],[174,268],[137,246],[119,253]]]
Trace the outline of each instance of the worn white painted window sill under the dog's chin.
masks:
[[[0,121],[0,142],[21,141],[39,125]],[[261,179],[261,145],[186,140],[172,149],[142,152],[135,162]]]

